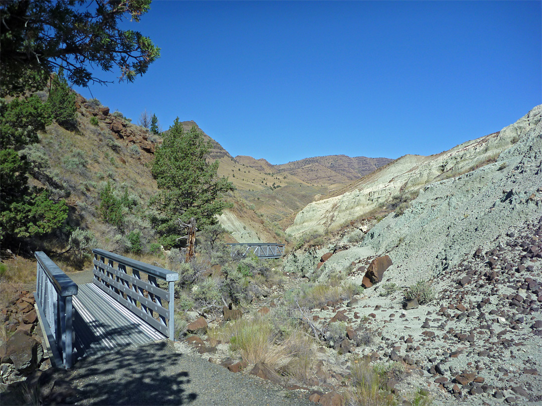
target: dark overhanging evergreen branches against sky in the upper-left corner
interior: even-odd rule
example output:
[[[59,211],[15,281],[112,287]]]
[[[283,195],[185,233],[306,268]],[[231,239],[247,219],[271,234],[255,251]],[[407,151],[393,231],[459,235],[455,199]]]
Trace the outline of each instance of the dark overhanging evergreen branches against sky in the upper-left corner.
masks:
[[[160,49],[119,25],[126,17],[138,22],[150,8],[151,0],[2,0],[2,94],[39,90],[61,66],[78,86],[105,83],[87,66],[117,67],[120,80],[133,82],[160,57]]]

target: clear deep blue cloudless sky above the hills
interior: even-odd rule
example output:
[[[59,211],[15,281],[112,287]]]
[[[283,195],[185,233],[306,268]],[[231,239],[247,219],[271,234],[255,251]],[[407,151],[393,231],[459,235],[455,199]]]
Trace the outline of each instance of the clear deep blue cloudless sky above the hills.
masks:
[[[90,91],[133,122],[194,120],[233,156],[275,164],[430,155],[542,103],[541,21],[540,1],[154,1],[123,27],[162,57]]]

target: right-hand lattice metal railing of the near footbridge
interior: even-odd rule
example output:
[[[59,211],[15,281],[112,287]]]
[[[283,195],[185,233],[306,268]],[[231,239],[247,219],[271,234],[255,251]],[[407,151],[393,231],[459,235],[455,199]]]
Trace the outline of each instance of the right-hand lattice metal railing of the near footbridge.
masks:
[[[98,249],[92,252],[93,282],[128,310],[173,340],[173,283],[179,279],[179,274],[112,252]],[[127,272],[127,267],[132,269],[132,274]],[[141,279],[141,273],[146,274],[147,280]],[[167,291],[158,285],[158,279],[167,282]],[[163,301],[167,302],[167,307]]]

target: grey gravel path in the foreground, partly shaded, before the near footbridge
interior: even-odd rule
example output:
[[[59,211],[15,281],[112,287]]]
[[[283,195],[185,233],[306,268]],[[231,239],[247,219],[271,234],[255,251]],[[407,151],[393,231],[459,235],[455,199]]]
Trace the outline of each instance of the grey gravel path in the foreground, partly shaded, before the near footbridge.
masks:
[[[76,404],[100,405],[305,405],[269,381],[234,374],[173,343],[155,342],[107,356],[83,359],[69,377]]]

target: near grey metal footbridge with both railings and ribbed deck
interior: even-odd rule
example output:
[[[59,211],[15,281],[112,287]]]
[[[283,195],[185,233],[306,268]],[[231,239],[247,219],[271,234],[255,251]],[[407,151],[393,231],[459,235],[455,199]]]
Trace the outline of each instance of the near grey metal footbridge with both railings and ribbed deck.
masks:
[[[173,339],[176,272],[93,250],[92,283],[77,285],[36,252],[36,307],[56,366],[124,346]]]

